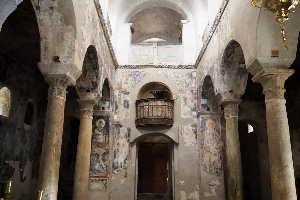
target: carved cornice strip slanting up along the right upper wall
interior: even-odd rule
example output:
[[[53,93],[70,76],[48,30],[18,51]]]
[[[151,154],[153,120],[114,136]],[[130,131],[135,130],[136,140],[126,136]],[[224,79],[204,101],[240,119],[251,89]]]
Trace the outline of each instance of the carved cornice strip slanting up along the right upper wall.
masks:
[[[199,53],[199,55],[198,55],[198,57],[196,59],[194,68],[197,68],[199,62],[201,61],[201,58],[202,58],[202,56],[203,56],[203,54],[204,54],[204,52],[205,52],[205,50],[206,50],[206,48],[208,46],[209,41],[211,40],[212,35],[214,34],[214,31],[217,28],[217,25],[219,24],[219,22],[221,20],[221,17],[222,17],[222,15],[224,13],[224,10],[225,10],[228,2],[229,2],[229,0],[223,0],[223,2],[221,4],[221,7],[219,9],[219,12],[217,13],[216,18],[214,18],[214,22],[212,23],[212,26],[211,26],[211,28],[210,28],[210,30],[208,32],[206,40],[205,40],[205,42],[204,42],[204,44],[202,46],[202,49],[201,49],[201,51],[200,51],[200,53]]]

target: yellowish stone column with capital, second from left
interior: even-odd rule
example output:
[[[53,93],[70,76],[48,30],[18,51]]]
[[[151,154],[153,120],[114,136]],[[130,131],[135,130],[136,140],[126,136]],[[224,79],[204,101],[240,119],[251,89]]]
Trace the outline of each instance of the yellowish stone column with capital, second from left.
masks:
[[[93,107],[98,105],[95,99],[77,99],[81,105],[80,126],[76,154],[73,186],[73,200],[88,199],[88,178],[90,172],[91,137]]]

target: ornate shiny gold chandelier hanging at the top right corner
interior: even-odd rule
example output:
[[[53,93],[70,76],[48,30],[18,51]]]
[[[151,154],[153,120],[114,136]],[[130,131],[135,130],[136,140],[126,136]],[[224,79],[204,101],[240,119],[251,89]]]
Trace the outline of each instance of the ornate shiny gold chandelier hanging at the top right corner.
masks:
[[[289,19],[289,14],[295,11],[300,0],[262,0],[262,5],[256,5],[261,0],[251,0],[254,7],[263,7],[276,14],[275,19],[280,22],[284,48],[287,49],[286,35],[284,33],[284,22]]]

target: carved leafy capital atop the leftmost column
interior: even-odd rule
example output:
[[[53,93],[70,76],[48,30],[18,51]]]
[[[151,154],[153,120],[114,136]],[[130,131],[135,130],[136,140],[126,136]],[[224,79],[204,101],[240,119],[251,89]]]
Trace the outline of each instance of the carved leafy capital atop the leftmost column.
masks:
[[[67,96],[67,87],[72,85],[71,82],[67,79],[62,78],[49,78],[46,79],[46,82],[49,85],[48,97],[61,97],[66,100]]]

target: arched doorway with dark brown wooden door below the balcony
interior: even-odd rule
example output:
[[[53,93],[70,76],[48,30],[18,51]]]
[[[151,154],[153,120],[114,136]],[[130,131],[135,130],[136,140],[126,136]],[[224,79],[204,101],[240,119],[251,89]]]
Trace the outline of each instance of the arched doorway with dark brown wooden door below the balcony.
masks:
[[[137,199],[172,199],[173,141],[146,136],[137,142]]]

